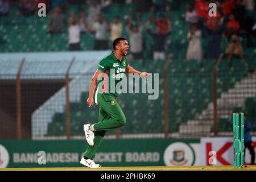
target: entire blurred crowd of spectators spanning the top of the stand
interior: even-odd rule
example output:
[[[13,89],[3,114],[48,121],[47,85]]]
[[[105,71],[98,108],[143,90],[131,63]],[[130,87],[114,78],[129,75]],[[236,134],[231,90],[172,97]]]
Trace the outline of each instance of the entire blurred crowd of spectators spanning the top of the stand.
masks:
[[[86,3],[88,9],[80,9],[79,12],[67,12],[69,1],[19,0],[18,15],[35,15],[40,2],[46,3],[50,16],[48,33],[53,35],[68,31],[70,51],[81,50],[81,34],[94,36],[93,49],[111,49],[113,40],[123,36],[125,30],[130,44],[130,55],[127,57],[129,60],[144,60],[143,53],[147,42],[145,34],[152,39],[152,58],[164,60],[166,57],[167,40],[172,35],[170,0],[70,1]],[[130,14],[120,12],[112,20],[107,20],[105,13],[111,13],[109,7],[112,3],[120,3],[123,9],[129,3],[133,3],[135,7]],[[216,3],[216,16],[209,16],[209,3]],[[254,0],[194,0],[187,3],[184,21],[188,23],[189,30],[185,59],[217,59],[224,39],[229,42],[225,47],[225,57],[242,59],[245,56],[245,46],[255,46],[254,6]],[[0,0],[0,16],[8,15],[9,10],[10,1]],[[141,19],[143,13],[148,14],[144,22]],[[207,45],[204,48],[201,41],[205,38]],[[247,40],[246,45],[243,40]]]

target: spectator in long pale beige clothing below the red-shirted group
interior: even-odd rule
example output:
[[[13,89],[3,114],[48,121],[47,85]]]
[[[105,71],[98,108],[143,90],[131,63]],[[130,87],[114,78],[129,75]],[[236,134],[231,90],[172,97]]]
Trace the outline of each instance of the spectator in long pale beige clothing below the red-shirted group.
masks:
[[[186,60],[201,60],[202,47],[201,47],[201,30],[198,30],[196,24],[192,24],[188,32],[188,49]]]

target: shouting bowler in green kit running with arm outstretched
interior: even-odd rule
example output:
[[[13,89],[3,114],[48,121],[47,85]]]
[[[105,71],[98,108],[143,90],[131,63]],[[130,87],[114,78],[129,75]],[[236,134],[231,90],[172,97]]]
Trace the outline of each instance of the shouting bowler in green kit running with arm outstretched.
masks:
[[[114,51],[100,61],[98,69],[90,82],[87,105],[90,107],[94,103],[93,95],[96,86],[95,103],[100,105],[98,122],[94,125],[84,125],[85,138],[89,146],[84,152],[84,156],[80,160],[80,163],[90,168],[101,167],[100,164],[94,163],[93,159],[106,131],[122,127],[126,123],[125,114],[123,114],[123,111],[117,102],[117,90],[112,92],[110,87],[117,85],[118,82],[122,80],[125,72],[137,74],[146,78],[149,75],[149,73],[139,72],[127,64],[126,55],[129,45],[125,38],[115,39],[113,48]],[[111,77],[110,72],[113,72]],[[98,81],[98,78],[102,75],[104,75],[103,81],[102,79]],[[106,77],[106,75],[108,75],[108,77]],[[109,79],[107,80],[107,78]],[[120,79],[116,80],[115,78]]]

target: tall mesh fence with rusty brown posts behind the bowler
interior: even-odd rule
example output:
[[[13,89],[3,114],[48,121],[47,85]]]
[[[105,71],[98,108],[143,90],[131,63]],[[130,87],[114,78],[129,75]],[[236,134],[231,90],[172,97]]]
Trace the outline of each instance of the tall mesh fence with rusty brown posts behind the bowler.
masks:
[[[59,127],[59,133],[38,135],[35,138],[51,138],[51,136],[67,139],[84,138],[81,126],[86,122],[92,122],[92,120],[97,121],[97,107],[94,106],[93,109],[89,110],[86,106],[86,94],[88,92],[81,91],[83,90],[81,88],[89,88],[93,73],[76,75],[82,77],[84,84],[77,84],[80,88],[75,89],[79,90],[76,93],[79,96],[77,96],[77,100],[71,100],[69,70],[73,61],[75,59],[72,59],[69,64],[64,75],[65,79],[56,78],[55,80],[53,75],[50,80],[45,78],[42,80],[24,80],[20,78],[22,65],[26,62],[24,59],[20,62],[16,75],[1,75],[1,78],[5,79],[0,80],[0,92],[2,93],[0,98],[2,127],[0,130],[5,130],[5,132],[0,132],[0,138],[32,138],[32,113],[42,107],[44,102],[53,97],[63,86],[65,87],[65,94],[61,98],[63,100],[61,103],[64,103],[64,109],[61,112],[53,111],[52,121],[46,122],[47,125],[42,122],[38,124],[40,125],[38,126],[39,129],[46,125],[48,132],[49,125],[57,122],[56,126],[52,126],[52,128],[54,130],[54,127]],[[139,94],[132,94],[129,99],[126,96],[121,96],[119,104],[123,107],[127,118],[130,118],[127,121],[129,123],[122,129],[110,132],[106,137],[197,138],[232,136],[229,127],[232,126],[232,111],[246,111],[254,106],[247,104],[247,102],[255,103],[256,75],[255,72],[239,72],[233,69],[228,72],[221,71],[218,69],[221,61],[222,56],[210,71],[203,71],[203,69],[173,71],[172,59],[168,57],[163,72],[160,73],[160,97],[158,101],[144,100],[143,96]],[[73,75],[72,77],[76,76]],[[27,75],[27,77],[33,78],[33,75]],[[40,76],[36,75],[36,77]],[[13,92],[13,88],[16,90],[15,98],[11,99],[11,94],[3,94]],[[58,103],[56,104],[58,105]],[[40,115],[42,117],[40,121],[44,121],[46,118],[46,115],[43,114],[47,113]],[[57,117],[64,118],[58,120]],[[89,118],[87,121],[82,120],[86,117]],[[251,114],[249,117],[251,120],[256,118]],[[12,127],[14,120],[11,118],[15,118],[16,127]],[[255,126],[256,121],[253,120],[252,122]]]

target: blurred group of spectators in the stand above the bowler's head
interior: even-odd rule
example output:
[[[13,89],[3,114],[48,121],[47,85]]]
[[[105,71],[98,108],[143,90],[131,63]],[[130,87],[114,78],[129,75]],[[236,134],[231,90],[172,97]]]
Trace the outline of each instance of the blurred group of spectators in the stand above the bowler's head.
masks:
[[[142,1],[135,5],[135,18],[133,15],[118,15],[114,16],[110,22],[104,17],[104,12],[108,10],[108,7],[113,1],[90,1],[88,10],[80,10],[79,16],[75,15],[75,12],[69,12],[68,18],[68,38],[69,38],[69,50],[79,51],[80,35],[92,34],[94,35],[94,50],[111,49],[111,42],[114,39],[123,36],[123,29],[126,30],[127,36],[129,36],[130,43],[130,55],[128,60],[142,59],[143,49],[145,43],[144,32],[153,39],[153,58],[154,60],[164,60],[166,47],[166,40],[171,34],[171,11],[167,1],[163,1],[164,4],[150,4],[150,6],[141,6],[146,1]],[[117,1],[125,6],[129,1]],[[132,1],[130,1],[131,3]],[[147,22],[144,23],[141,20],[143,12],[150,11]],[[158,19],[154,19],[155,13],[167,13],[168,17],[165,18],[164,14],[159,14]],[[123,20],[121,20],[123,19]],[[152,30],[150,24],[154,24],[155,28]],[[146,26],[146,27],[145,27]],[[65,18],[61,11],[60,6],[56,6],[51,12],[51,18],[48,25],[48,32],[51,34],[57,34],[63,32],[65,28]]]

